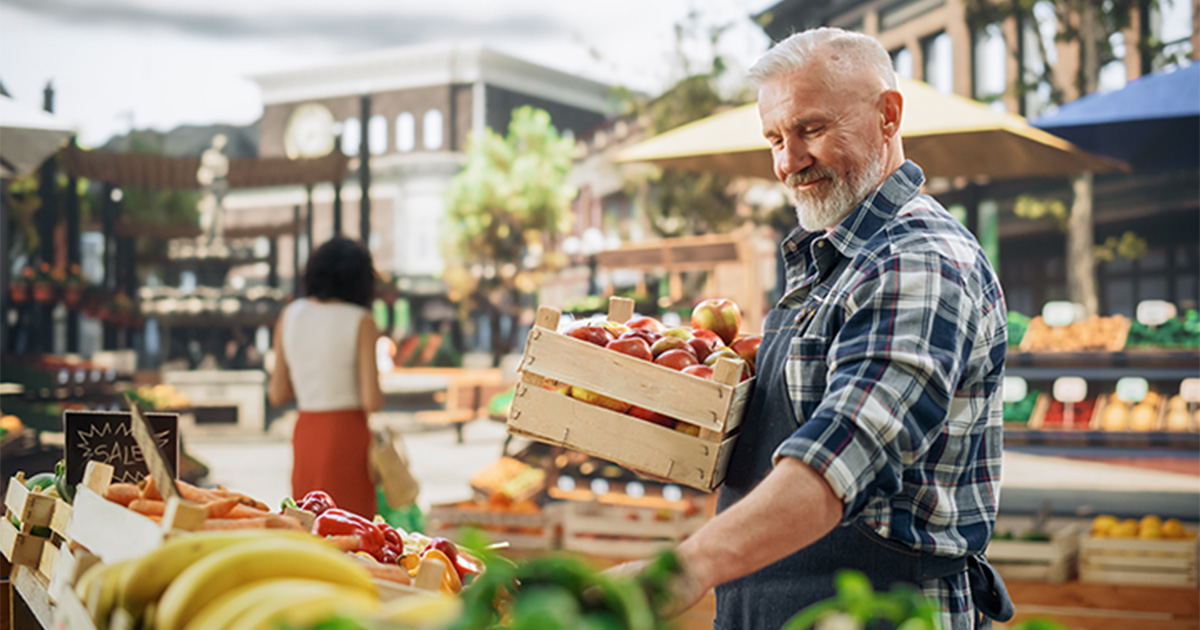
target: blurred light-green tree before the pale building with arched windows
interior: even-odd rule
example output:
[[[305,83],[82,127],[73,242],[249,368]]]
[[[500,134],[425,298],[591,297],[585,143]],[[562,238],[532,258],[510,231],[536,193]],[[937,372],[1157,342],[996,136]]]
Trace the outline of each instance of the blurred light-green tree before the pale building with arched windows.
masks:
[[[570,227],[574,152],[550,114],[522,107],[506,136],[491,128],[470,136],[467,164],[450,182],[446,283],[451,299],[488,314],[497,365],[516,347],[517,326],[502,338],[502,317],[517,320],[542,275],[562,266],[554,245]]]

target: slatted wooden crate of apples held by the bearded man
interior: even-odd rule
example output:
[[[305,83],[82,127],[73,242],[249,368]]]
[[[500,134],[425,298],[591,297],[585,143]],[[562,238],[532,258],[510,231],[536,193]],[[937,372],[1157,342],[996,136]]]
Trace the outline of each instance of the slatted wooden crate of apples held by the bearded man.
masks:
[[[608,318],[624,322],[632,302],[613,299]],[[521,360],[508,428],[521,436],[713,491],[737,439],[754,379],[739,383],[742,362],[722,360],[713,380],[683,374],[556,332],[559,312],[538,310]],[[546,380],[584,388],[695,425],[673,431],[546,389]]]

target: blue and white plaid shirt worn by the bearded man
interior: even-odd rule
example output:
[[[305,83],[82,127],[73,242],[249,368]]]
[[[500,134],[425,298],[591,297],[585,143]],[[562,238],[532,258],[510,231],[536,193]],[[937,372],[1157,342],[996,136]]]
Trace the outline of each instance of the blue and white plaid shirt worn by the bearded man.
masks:
[[[1000,502],[1007,316],[974,236],[924,181],[906,162],[832,232],[784,242],[779,307],[810,314],[786,372],[800,426],[775,460],[824,475],[845,522],[966,556],[986,548]],[[922,587],[944,628],[973,628],[965,574]]]

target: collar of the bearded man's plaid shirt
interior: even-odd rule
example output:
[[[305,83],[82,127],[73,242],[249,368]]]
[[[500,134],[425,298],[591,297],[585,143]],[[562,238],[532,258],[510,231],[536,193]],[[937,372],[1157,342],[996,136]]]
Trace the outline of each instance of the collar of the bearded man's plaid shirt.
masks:
[[[905,161],[833,230],[823,233],[793,229],[781,244],[784,260],[788,266],[806,270],[815,257],[817,241],[822,240],[829,241],[842,256],[853,257],[880,228],[895,217],[904,204],[920,192],[923,184],[925,174],[920,167],[911,160]]]

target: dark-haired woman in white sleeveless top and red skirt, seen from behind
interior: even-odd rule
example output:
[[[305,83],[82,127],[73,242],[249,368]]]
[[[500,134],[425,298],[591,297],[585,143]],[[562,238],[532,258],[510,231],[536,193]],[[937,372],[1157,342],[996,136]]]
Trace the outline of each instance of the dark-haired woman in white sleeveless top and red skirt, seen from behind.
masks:
[[[367,414],[383,406],[371,316],[374,265],[358,242],[335,238],[305,270],[305,298],[275,324],[275,371],[268,398],[296,398],[292,493],[328,492],[338,508],[371,518],[376,491],[367,463]]]

